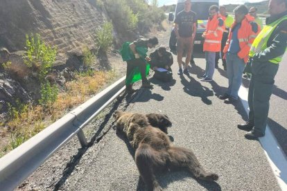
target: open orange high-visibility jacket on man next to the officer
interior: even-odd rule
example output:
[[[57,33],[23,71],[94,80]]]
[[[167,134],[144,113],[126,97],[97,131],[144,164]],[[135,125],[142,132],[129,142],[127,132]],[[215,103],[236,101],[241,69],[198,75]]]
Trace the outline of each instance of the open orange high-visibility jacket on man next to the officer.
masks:
[[[250,15],[245,15],[244,19],[241,21],[241,27],[238,29],[238,40],[239,40],[239,47],[240,51],[237,53],[238,57],[243,59],[245,63],[248,61],[248,55],[250,51],[250,47],[252,45],[252,42],[254,41],[255,37],[258,35],[260,31],[260,26],[258,26],[258,31],[256,33],[252,30],[252,25],[250,22],[254,21],[254,17],[251,17]],[[254,23],[256,24],[256,23]],[[229,36],[226,42],[226,45],[223,49],[223,53],[227,53],[229,48],[229,43],[232,38],[232,28],[236,25],[236,22],[232,24],[232,27],[230,28]]]

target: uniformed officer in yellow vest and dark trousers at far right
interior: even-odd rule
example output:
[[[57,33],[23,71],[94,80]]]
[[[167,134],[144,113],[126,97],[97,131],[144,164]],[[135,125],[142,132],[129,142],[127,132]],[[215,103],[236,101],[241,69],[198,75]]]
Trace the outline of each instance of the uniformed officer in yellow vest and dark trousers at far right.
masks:
[[[269,100],[279,63],[286,52],[287,0],[270,0],[270,17],[250,48],[251,80],[248,91],[249,119],[238,129],[249,131],[247,139],[265,135]]]

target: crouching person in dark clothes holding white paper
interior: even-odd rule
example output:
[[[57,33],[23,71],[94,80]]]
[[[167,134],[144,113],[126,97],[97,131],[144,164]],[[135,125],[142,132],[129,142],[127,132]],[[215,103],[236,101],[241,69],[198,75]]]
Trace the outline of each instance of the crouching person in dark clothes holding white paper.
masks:
[[[153,53],[150,53],[150,67],[155,71],[154,78],[162,82],[171,82],[173,73],[171,65],[173,64],[173,55],[166,51],[165,47],[159,47]]]

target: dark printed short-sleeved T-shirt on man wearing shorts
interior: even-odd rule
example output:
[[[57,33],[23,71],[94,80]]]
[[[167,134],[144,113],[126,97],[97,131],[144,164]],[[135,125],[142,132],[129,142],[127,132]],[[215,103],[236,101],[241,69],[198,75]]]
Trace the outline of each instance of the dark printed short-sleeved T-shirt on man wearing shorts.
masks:
[[[193,33],[193,24],[197,24],[198,19],[193,11],[186,12],[182,10],[175,17],[175,24],[178,24],[178,33],[180,37],[191,37]]]

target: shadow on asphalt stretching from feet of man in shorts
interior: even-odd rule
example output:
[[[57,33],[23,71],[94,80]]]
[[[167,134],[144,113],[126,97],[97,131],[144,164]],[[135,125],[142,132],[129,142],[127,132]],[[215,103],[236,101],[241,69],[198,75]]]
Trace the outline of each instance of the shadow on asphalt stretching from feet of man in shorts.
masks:
[[[204,102],[205,104],[212,104],[211,100],[209,100],[209,98],[207,97],[214,96],[214,92],[208,89],[207,87],[202,86],[200,82],[198,82],[191,76],[187,75],[190,82],[186,80],[184,76],[186,75],[180,75],[180,79],[181,79],[180,81],[184,85],[184,88],[183,88],[184,92],[188,93],[190,96],[200,97],[202,102]]]

